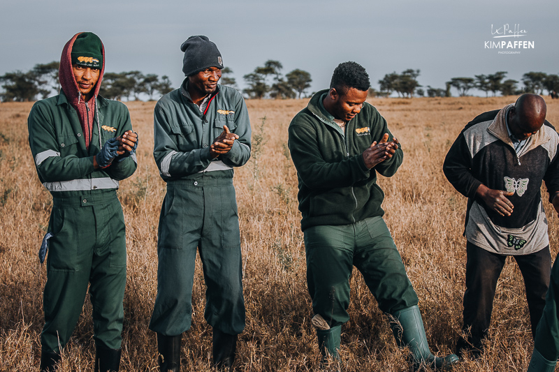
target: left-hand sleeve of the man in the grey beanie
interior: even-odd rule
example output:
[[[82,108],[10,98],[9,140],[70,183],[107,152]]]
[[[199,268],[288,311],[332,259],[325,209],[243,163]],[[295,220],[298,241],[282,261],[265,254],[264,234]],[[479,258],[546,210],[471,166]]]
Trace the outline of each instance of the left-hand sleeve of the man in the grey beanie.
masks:
[[[210,147],[179,151],[176,137],[183,134],[171,115],[173,110],[156,105],[153,156],[159,172],[165,177],[182,177],[205,170],[212,161]]]

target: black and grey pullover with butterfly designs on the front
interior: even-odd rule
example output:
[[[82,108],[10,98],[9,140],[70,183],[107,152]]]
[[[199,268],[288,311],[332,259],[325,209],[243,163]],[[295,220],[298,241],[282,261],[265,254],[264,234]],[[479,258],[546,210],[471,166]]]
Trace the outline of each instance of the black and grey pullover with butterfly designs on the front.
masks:
[[[540,188],[545,181],[549,201],[559,191],[559,135],[545,121],[516,154],[507,132],[507,107],[484,112],[454,141],[444,159],[449,182],[468,198],[464,235],[486,251],[526,255],[549,245]],[[514,192],[511,216],[500,216],[476,196],[480,184]]]

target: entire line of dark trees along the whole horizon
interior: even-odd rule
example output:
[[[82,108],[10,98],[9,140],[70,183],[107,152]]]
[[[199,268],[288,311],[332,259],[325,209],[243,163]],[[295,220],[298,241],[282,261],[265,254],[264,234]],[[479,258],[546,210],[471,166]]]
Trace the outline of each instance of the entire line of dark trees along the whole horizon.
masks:
[[[252,73],[243,76],[246,88],[242,93],[247,98],[301,98],[310,88],[311,75],[305,70],[296,68],[282,75],[282,63],[268,59],[263,66],[257,66]],[[6,101],[35,101],[37,97],[47,98],[52,91],[59,91],[58,81],[59,62],[36,64],[27,72],[17,70],[0,76],[0,100]],[[221,83],[238,89],[237,82],[232,76],[231,68],[222,70]],[[452,89],[458,96],[467,96],[472,89],[484,91],[486,96],[518,95],[523,93],[543,94],[544,90],[553,98],[559,91],[559,75],[542,72],[529,72],[522,76],[523,86],[517,80],[505,79],[506,71],[498,71],[488,75],[474,75],[474,77],[452,77],[444,88],[434,88],[419,84],[420,70],[409,68],[402,73],[388,73],[378,81],[379,91],[370,89],[371,96],[388,97],[396,93],[399,97],[412,98],[414,96],[450,97]],[[101,85],[101,96],[119,101],[139,100],[140,96],[149,97],[150,101],[172,91],[173,87],[168,76],[159,77],[155,74],[144,75],[140,71],[122,73],[105,73]]]

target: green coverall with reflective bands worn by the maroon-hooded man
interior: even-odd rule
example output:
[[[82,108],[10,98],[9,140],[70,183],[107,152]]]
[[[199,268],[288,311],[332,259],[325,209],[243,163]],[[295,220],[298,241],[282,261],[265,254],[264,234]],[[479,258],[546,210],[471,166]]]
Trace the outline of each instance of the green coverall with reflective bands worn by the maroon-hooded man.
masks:
[[[89,151],[64,91],[35,103],[28,119],[38,177],[53,198],[41,333],[42,348],[50,352],[68,342],[88,283],[96,343],[117,349],[122,339],[126,233],[116,190],[136,170],[136,155],[94,168],[99,144],[132,129],[125,105],[100,96],[97,105]]]

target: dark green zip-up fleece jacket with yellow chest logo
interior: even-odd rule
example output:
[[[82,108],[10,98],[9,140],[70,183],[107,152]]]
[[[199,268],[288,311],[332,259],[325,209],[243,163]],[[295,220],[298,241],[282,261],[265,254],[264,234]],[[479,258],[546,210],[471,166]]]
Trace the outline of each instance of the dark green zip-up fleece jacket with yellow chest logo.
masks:
[[[299,181],[301,230],[315,225],[348,225],[383,216],[384,193],[377,172],[391,177],[402,164],[401,146],[395,154],[369,170],[363,151],[389,133],[386,120],[369,103],[346,125],[346,133],[333,122],[320,100],[328,90],[312,96],[289,124],[289,151]]]

